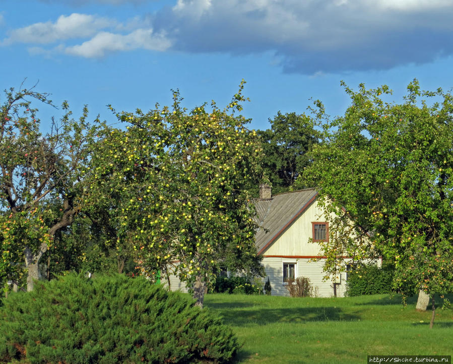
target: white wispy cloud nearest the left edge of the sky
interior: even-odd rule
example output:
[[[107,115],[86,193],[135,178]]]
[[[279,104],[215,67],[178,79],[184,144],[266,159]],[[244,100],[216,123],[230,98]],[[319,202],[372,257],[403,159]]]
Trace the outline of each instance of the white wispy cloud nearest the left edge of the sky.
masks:
[[[93,15],[77,13],[69,16],[61,15],[55,23],[35,23],[28,27],[13,30],[10,32],[10,37],[4,40],[4,44],[17,42],[46,44],[71,38],[89,37],[99,29],[114,24],[116,24],[115,21]]]

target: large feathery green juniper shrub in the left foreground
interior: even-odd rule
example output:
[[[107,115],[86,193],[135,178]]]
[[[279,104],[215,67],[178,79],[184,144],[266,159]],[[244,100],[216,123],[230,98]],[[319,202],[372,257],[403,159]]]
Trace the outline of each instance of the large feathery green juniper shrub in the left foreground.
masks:
[[[225,362],[237,348],[219,317],[141,277],[69,274],[0,308],[0,362]]]

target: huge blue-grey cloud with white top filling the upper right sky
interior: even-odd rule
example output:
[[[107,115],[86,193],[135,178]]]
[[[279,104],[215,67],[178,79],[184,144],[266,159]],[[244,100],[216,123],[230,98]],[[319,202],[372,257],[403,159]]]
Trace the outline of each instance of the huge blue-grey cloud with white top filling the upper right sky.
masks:
[[[286,72],[387,69],[453,53],[449,0],[178,0],[153,25],[186,52],[274,51]]]

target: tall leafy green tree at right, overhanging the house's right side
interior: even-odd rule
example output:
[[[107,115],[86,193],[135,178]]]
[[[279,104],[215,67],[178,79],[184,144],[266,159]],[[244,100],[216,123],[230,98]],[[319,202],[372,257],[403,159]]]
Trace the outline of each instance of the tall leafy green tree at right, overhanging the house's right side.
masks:
[[[434,295],[453,291],[453,97],[417,80],[402,104],[382,100],[386,86],[345,89],[351,105],[325,125],[305,176],[395,262],[399,292],[430,295],[432,326]]]

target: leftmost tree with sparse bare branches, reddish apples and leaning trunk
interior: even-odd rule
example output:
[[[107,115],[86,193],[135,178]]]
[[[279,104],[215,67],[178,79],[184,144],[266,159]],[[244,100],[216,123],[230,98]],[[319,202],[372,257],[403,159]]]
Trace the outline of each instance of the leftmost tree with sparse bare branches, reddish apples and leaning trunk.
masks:
[[[21,88],[5,96],[0,106],[0,280],[6,286],[26,274],[32,290],[41,257],[84,201],[89,145],[99,130],[86,121],[86,109],[78,121],[71,119],[65,102],[59,125],[52,122],[42,133],[31,100],[51,104],[48,95]]]

